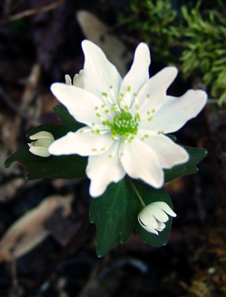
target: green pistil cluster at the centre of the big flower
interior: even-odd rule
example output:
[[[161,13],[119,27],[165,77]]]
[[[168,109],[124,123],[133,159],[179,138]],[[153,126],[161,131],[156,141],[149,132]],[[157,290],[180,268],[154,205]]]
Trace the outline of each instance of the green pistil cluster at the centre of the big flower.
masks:
[[[116,135],[127,137],[128,135],[136,134],[138,120],[139,118],[137,116],[133,119],[130,113],[121,109],[121,114],[116,115],[113,122],[105,120],[103,121],[103,124],[111,128],[112,137]]]

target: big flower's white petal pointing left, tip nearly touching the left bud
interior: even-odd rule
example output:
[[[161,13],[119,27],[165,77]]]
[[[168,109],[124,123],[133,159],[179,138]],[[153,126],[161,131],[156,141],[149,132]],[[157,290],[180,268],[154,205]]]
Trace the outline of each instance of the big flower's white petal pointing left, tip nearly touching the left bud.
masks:
[[[112,142],[111,133],[97,135],[92,133],[92,129],[86,126],[76,132],[69,132],[52,142],[49,146],[49,152],[52,155],[99,155],[107,151]]]

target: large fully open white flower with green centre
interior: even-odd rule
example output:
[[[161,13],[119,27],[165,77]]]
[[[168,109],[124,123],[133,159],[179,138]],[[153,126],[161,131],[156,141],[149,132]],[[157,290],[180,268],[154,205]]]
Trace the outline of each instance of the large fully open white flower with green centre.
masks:
[[[207,94],[189,90],[179,98],[167,96],[178,70],[165,67],[150,78],[150,51],[145,43],[136,48],[132,67],[123,79],[97,45],[83,41],[82,47],[83,88],[54,83],[51,90],[86,126],[53,142],[49,152],[89,156],[86,174],[92,197],[102,195],[112,181],[126,174],[161,188],[163,168],[189,159],[187,151],[164,134],[178,131],[196,117]]]

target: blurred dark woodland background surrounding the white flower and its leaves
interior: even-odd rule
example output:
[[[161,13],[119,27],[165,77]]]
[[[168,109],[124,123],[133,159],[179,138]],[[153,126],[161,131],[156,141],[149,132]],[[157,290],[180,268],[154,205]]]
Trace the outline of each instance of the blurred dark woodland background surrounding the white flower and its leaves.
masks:
[[[83,68],[83,39],[102,47],[122,76],[145,41],[151,76],[167,65],[180,71],[168,94],[209,94],[205,110],[175,133],[208,155],[198,173],[165,184],[177,217],[164,247],[134,232],[97,258],[87,179],[31,181],[19,164],[3,166],[30,129],[61,123],[50,85]],[[226,296],[225,43],[220,0],[1,1],[0,296]]]

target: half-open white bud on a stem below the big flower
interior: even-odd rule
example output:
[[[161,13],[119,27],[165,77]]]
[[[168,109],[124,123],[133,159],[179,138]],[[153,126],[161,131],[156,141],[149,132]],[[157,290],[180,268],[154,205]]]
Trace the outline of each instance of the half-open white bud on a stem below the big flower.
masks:
[[[176,213],[163,201],[153,202],[143,208],[138,214],[138,222],[147,232],[158,235],[165,229],[165,222],[169,220],[168,215],[176,217]]]

